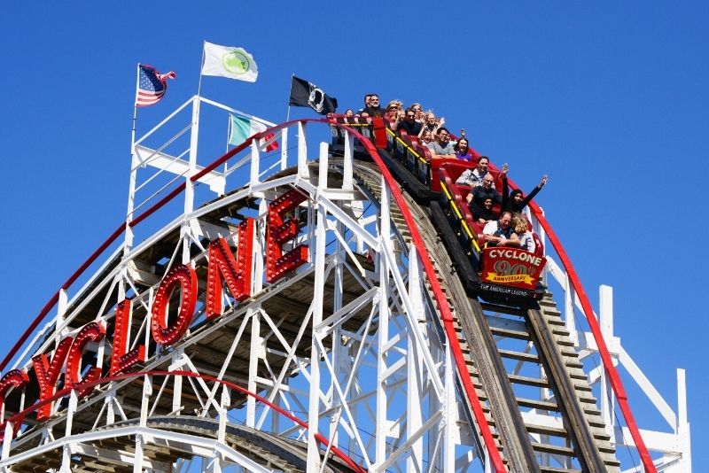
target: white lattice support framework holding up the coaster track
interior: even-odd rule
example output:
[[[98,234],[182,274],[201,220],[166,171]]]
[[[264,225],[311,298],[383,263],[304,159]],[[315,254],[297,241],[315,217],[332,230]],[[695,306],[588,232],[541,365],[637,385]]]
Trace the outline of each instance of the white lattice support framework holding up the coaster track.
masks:
[[[93,315],[95,320],[110,323],[115,307],[126,297],[132,298],[144,319],[130,333],[131,347],[149,345],[152,300],[161,277],[177,263],[204,267],[206,240],[222,236],[238,244],[238,220],[245,217],[257,221],[253,269],[260,276],[253,279],[253,297],[238,303],[225,292],[225,314],[214,321],[206,321],[205,301],[200,298],[187,335],[168,349],[158,346],[141,374],[106,380],[84,399],[76,392],[64,393],[65,401],[53,403],[50,420],[27,423],[17,435],[12,423],[7,423],[0,467],[12,471],[29,458],[61,451],[61,471],[70,471],[78,457],[85,463],[95,458],[124,468],[132,466],[136,472],[270,471],[225,441],[231,435],[230,426],[238,425],[300,442],[312,472],[328,466],[331,460],[323,461],[323,449],[331,454],[332,447],[372,471],[485,470],[487,461],[480,461],[478,454],[484,451],[482,441],[476,438],[472,415],[457,392],[455,364],[440,330],[439,315],[425,291],[421,262],[393,228],[395,204],[386,182],[378,181],[382,191],[376,198],[363,191],[354,179],[352,138],[346,140],[344,159],[332,159],[327,144],[312,146],[303,122],[278,130],[271,141],[278,140],[281,151],[264,153],[254,140],[223,167],[192,181],[206,167],[198,159],[200,108],[204,105],[222,114],[238,112],[193,97],[134,139],[129,225],[123,242],[113,247],[113,253],[80,289],[61,291],[56,315],[27,341],[12,368],[30,369],[35,353],[51,353],[62,337],[75,335],[75,317],[85,314],[102,291],[107,295]],[[182,127],[179,121],[185,116],[188,123]],[[171,135],[173,131],[166,130],[176,132]],[[296,143],[294,152],[289,137]],[[182,183],[183,205],[162,206],[141,226],[130,225]],[[294,244],[307,244],[310,258],[284,280],[268,284],[261,277],[268,205],[292,189],[307,197],[295,211],[304,225]],[[246,200],[252,203],[251,210],[238,217],[222,219],[223,224],[209,218]],[[169,258],[160,260],[160,270],[145,268],[142,255],[176,231],[179,237],[171,241]],[[112,263],[117,260],[118,264]],[[565,291],[565,320],[572,333],[577,333],[576,317],[571,314],[578,314],[580,306],[553,256],[548,279],[556,280]],[[346,282],[352,287],[344,287]],[[300,319],[267,308],[273,299],[302,291],[304,285],[312,287],[308,291],[313,297]],[[347,299],[346,292],[357,295]],[[612,353],[673,429],[664,434],[643,431],[643,438],[651,450],[665,455],[658,460],[659,469],[689,471],[683,371],[675,415],[613,336],[610,288],[603,288],[601,296],[600,320]],[[350,323],[354,320],[356,324]],[[207,350],[200,341],[217,333],[230,340],[230,348],[221,364],[203,366],[194,349]],[[589,340],[587,334],[578,332],[577,341],[587,360],[595,350]],[[108,362],[111,349],[107,339],[87,348],[96,353],[98,368]],[[230,371],[243,350],[248,353],[248,366],[235,382]],[[601,392],[598,399],[603,399],[604,416],[612,425],[614,408],[604,371],[595,368],[590,375]],[[232,399],[239,396],[245,401],[235,407]],[[27,407],[24,402],[22,397],[20,405]],[[186,412],[185,404],[196,407]],[[89,413],[94,421],[87,429]],[[152,422],[158,415],[203,419],[205,423],[198,425],[213,425],[214,436],[189,427],[161,428]],[[326,444],[319,444],[316,434]],[[629,438],[622,428],[612,435],[618,445]],[[97,446],[109,438],[131,438],[131,447]],[[145,454],[146,449],[159,447],[183,452],[183,459],[168,464]]]

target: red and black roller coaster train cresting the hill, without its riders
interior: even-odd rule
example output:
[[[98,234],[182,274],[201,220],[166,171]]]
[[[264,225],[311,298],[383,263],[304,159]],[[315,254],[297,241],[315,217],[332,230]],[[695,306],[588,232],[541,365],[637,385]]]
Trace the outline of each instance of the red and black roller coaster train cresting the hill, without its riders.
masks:
[[[421,205],[429,207],[434,226],[439,229],[465,290],[472,297],[512,306],[526,306],[541,299],[539,283],[546,264],[541,240],[534,234],[536,251],[519,248],[485,247],[482,226],[473,218],[465,196],[470,188],[456,184],[465,169],[477,162],[460,159],[432,159],[431,151],[416,136],[395,132],[386,120],[369,117],[331,115],[330,120],[360,131],[378,148],[393,177]],[[331,125],[333,154],[344,153],[343,129]],[[473,156],[479,153],[473,151]],[[354,141],[354,156],[370,159],[368,151]],[[477,161],[477,159],[475,159]],[[495,188],[502,189],[502,176],[495,168]],[[499,205],[495,208],[499,211]]]

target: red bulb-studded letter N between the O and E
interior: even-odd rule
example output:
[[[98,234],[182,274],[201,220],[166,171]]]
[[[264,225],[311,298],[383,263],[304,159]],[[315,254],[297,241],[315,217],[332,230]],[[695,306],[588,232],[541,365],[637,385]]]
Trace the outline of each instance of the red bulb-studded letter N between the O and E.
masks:
[[[239,302],[251,295],[253,219],[238,226],[237,260],[224,238],[209,244],[209,266],[206,270],[206,318],[222,315],[222,275],[231,295]]]

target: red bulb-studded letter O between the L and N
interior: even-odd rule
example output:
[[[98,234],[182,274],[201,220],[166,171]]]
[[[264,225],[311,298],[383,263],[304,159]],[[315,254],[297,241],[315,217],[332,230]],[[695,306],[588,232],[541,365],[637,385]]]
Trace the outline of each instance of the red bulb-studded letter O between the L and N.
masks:
[[[175,287],[180,286],[182,303],[177,310],[177,319],[168,327],[168,300]],[[194,307],[197,304],[197,274],[186,265],[178,265],[169,270],[160,283],[152,302],[152,337],[161,345],[172,345],[183,336],[190,326]]]

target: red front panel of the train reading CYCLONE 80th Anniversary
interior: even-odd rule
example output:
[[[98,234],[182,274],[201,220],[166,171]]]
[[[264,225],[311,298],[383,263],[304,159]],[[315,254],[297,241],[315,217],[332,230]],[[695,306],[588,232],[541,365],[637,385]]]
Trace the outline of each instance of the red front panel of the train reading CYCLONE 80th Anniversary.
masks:
[[[492,247],[483,251],[482,280],[534,290],[547,260],[519,248]]]

